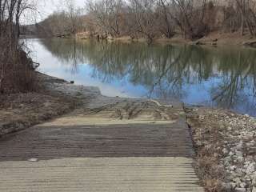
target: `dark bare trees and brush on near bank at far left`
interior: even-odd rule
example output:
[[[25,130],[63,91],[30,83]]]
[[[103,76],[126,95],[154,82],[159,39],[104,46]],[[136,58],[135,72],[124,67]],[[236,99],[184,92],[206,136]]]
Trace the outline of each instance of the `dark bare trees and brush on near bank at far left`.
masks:
[[[32,88],[33,62],[22,50],[20,19],[28,0],[0,0],[0,94]]]

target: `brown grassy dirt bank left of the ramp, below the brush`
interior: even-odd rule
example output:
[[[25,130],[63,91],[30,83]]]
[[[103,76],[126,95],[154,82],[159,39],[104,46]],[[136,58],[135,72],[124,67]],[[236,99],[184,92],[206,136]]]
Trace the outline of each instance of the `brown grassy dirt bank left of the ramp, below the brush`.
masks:
[[[74,98],[44,88],[46,82],[54,83],[54,80],[49,81],[47,76],[40,74],[38,76],[42,90],[0,95],[0,137],[66,114],[76,106]]]

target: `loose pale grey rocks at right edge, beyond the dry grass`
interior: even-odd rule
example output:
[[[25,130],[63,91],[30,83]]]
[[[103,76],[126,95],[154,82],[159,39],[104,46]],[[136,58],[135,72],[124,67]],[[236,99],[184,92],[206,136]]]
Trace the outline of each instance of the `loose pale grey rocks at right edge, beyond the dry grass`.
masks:
[[[227,173],[226,186],[235,191],[256,190],[256,120],[248,115],[224,115],[221,163]]]

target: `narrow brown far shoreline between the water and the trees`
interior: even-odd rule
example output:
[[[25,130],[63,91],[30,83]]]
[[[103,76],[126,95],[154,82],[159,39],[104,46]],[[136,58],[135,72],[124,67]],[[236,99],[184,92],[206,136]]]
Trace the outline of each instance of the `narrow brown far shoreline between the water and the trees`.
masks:
[[[85,41],[94,39],[97,40],[96,37],[89,37],[83,33],[63,36],[63,37],[40,37],[37,35],[21,35],[21,38],[62,38],[62,39],[77,39],[79,41]],[[123,43],[147,43],[146,38],[136,38],[132,39],[130,36],[122,36],[119,38],[108,37],[105,39],[101,39],[99,41],[106,42],[123,42]],[[199,38],[197,40],[185,39],[180,34],[174,35],[173,38],[154,38],[150,44],[160,44],[160,45],[172,45],[172,44],[183,44],[189,46],[209,46],[209,47],[226,47],[226,46],[238,46],[256,49],[256,37],[252,37],[250,34],[245,34],[241,36],[240,33],[211,33],[203,38]]]

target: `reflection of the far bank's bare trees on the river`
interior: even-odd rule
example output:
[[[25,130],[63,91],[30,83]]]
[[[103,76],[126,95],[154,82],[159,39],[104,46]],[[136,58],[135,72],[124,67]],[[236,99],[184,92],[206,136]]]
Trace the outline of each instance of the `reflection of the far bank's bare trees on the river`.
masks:
[[[78,64],[87,63],[94,69],[94,78],[103,82],[128,79],[146,87],[150,98],[186,102],[191,87],[210,85],[208,104],[255,111],[255,50],[68,39],[42,43],[64,65],[77,69]]]

